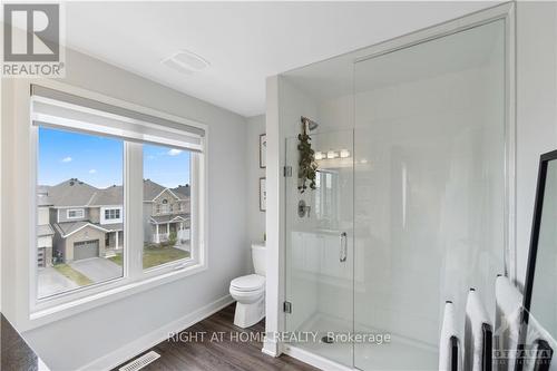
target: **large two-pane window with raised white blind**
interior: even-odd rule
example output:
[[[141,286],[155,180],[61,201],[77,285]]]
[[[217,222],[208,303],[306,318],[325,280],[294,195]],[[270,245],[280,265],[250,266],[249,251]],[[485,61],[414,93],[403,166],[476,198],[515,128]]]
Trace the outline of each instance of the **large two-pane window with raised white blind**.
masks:
[[[150,287],[205,267],[202,125],[35,85],[31,104],[38,152],[31,311],[81,305],[105,292],[119,295],[120,286]]]

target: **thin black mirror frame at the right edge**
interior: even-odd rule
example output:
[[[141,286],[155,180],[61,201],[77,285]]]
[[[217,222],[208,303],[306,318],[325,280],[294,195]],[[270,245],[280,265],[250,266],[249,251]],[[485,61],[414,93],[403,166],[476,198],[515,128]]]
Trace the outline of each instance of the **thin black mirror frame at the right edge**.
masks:
[[[544,208],[544,197],[547,180],[547,166],[550,160],[557,160],[557,150],[543,154],[539,158],[538,183],[536,186],[536,201],[534,203],[534,217],[531,223],[530,246],[528,252],[528,265],[526,269],[526,281],[522,297],[522,309],[520,316],[520,333],[518,342],[518,353],[516,357],[515,371],[522,370],[522,362],[518,354],[524,350],[526,334],[528,331],[528,320],[531,305],[531,293],[534,289],[534,276],[536,273],[536,258],[538,254],[539,230],[541,225],[541,212]]]

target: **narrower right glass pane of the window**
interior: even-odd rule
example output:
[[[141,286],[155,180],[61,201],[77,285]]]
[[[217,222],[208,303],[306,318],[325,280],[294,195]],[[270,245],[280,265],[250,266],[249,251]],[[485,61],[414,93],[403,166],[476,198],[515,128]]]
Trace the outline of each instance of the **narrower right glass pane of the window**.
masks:
[[[143,267],[190,257],[190,154],[144,145]]]

